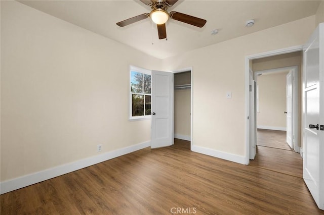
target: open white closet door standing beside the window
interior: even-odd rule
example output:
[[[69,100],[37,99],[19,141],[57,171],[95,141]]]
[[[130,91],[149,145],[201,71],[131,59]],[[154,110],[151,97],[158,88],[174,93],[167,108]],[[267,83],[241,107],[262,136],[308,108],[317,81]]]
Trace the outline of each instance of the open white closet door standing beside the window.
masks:
[[[173,144],[173,73],[152,71],[151,148]]]

